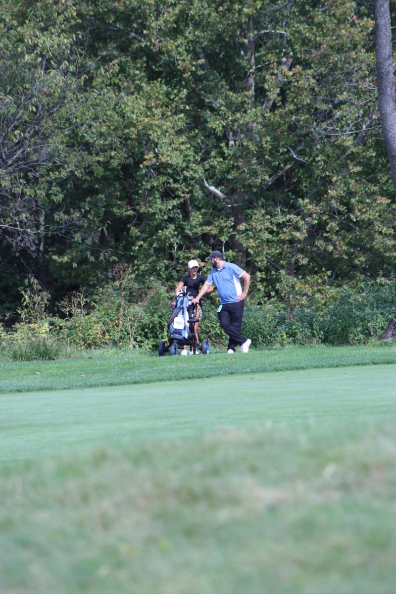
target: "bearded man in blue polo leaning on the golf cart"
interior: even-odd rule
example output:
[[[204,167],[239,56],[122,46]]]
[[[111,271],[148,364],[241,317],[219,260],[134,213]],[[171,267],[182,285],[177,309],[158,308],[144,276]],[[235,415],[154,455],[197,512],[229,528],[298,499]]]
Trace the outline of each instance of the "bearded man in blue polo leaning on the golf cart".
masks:
[[[240,329],[242,328],[243,308],[245,307],[244,300],[251,282],[250,274],[236,266],[236,264],[226,262],[223,254],[217,249],[206,259],[210,260],[212,270],[197,297],[191,303],[198,303],[209,287],[216,285],[220,295],[220,305],[217,309],[218,321],[221,328],[230,337],[227,353],[235,353],[237,345],[240,345],[242,353],[247,353],[252,341],[242,336]],[[243,280],[243,290],[240,279]]]

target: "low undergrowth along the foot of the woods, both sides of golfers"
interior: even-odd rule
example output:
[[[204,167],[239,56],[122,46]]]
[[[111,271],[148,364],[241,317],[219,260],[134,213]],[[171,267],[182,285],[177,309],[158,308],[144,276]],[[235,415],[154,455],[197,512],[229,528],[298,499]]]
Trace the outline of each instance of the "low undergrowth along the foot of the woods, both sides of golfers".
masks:
[[[21,321],[8,332],[0,327],[0,345],[8,358],[27,361],[68,356],[71,347],[104,346],[156,350],[169,336],[172,290],[160,283],[142,290],[120,267],[115,282],[90,301],[81,289],[59,304],[63,317],[47,315],[49,295],[34,284],[21,291]],[[378,337],[392,316],[394,279],[379,277],[345,287],[307,286],[283,277],[278,295],[264,303],[248,301],[242,333],[255,347],[361,344]],[[226,347],[228,337],[217,317],[217,296],[202,299],[199,338]]]

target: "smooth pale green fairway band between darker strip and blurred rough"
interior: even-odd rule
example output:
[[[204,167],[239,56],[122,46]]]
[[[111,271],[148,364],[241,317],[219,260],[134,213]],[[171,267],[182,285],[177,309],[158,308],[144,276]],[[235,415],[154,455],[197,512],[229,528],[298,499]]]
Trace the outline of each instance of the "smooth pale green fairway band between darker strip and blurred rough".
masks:
[[[0,460],[223,427],[391,416],[395,379],[396,365],[367,365],[2,394]]]

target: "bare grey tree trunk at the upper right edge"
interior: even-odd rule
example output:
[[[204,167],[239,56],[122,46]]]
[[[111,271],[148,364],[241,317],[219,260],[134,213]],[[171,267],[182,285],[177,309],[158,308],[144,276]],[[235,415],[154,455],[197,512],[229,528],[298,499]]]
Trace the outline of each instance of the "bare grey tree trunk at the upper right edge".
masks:
[[[374,18],[379,115],[396,192],[396,93],[389,0],[375,0]]]

